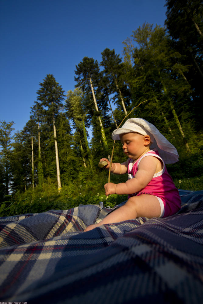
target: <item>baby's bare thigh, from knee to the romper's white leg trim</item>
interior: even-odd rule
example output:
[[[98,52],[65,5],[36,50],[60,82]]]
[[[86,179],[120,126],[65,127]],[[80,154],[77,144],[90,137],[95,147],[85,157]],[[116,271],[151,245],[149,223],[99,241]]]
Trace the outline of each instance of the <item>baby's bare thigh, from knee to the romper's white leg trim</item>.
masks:
[[[135,209],[137,217],[159,217],[161,214],[161,207],[159,200],[154,195],[141,194],[132,196],[126,202],[127,206]]]

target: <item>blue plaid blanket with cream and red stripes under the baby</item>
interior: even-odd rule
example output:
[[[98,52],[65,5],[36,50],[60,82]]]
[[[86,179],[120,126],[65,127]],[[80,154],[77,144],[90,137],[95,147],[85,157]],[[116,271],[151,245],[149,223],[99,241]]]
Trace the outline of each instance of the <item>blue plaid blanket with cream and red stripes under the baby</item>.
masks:
[[[0,218],[0,301],[200,304],[203,191],[180,195],[176,215],[88,232],[112,209],[80,205]]]

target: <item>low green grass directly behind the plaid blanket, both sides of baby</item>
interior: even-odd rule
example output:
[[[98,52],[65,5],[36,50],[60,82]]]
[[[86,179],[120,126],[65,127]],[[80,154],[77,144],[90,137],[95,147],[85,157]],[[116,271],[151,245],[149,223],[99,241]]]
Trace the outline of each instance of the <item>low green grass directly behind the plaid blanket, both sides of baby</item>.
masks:
[[[183,190],[203,190],[203,176],[193,178],[174,179],[178,189]],[[95,187],[96,188],[96,187]],[[5,201],[0,206],[0,216],[12,216],[25,213],[40,213],[51,209],[64,210],[79,206],[79,204],[99,204],[104,202],[104,206],[113,208],[115,205],[127,200],[127,195],[110,195],[106,200],[103,188],[99,193],[93,192],[93,188],[79,186],[63,187],[58,193],[56,185],[48,185],[44,190],[33,191],[31,188],[23,193],[7,195]],[[106,200],[106,201],[105,201]]]

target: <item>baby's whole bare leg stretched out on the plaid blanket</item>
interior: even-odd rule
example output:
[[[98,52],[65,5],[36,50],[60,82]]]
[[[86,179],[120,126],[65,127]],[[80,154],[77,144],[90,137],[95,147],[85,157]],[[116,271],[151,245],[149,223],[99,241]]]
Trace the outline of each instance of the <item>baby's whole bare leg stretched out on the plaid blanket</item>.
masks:
[[[159,217],[161,207],[158,199],[154,195],[142,194],[132,196],[125,205],[108,214],[100,223],[88,226],[84,231],[92,230],[103,224],[118,223],[137,217]]]

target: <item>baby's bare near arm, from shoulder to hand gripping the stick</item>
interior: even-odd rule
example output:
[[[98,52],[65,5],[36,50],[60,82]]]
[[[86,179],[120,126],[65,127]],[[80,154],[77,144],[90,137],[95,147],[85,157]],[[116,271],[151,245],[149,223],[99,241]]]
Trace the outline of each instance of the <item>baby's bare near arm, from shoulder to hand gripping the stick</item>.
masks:
[[[138,166],[138,171],[134,178],[129,179],[125,183],[114,184],[107,183],[104,185],[105,194],[132,194],[140,191],[149,184],[153,178],[159,160],[153,156],[144,157]]]

